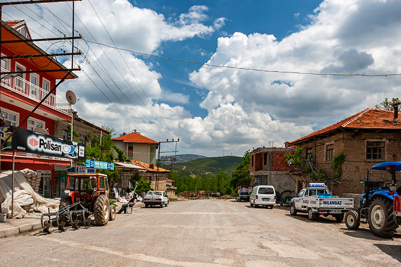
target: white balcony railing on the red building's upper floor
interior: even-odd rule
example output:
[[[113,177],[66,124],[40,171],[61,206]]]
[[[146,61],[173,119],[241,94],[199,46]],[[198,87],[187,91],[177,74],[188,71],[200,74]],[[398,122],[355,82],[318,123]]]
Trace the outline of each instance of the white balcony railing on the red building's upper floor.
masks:
[[[2,68],[2,72],[7,72],[7,71],[8,70]],[[48,94],[46,90],[43,90],[39,86],[32,84],[21,77],[15,77],[7,80],[2,79],[1,84],[7,89],[13,90],[21,95],[34,99],[37,102],[42,101]],[[46,100],[43,102],[43,105],[55,108],[66,114],[71,113],[70,103],[53,94],[51,94],[48,98],[46,98]]]

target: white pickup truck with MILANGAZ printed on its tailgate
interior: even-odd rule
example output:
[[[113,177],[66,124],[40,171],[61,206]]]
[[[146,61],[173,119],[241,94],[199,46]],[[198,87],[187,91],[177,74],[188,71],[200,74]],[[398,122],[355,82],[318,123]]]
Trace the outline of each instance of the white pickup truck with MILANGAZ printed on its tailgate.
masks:
[[[309,183],[308,188],[291,199],[290,213],[295,216],[297,211],[307,212],[310,220],[316,220],[320,214],[333,215],[337,221],[342,221],[344,213],[353,206],[353,198],[332,196],[324,183]]]

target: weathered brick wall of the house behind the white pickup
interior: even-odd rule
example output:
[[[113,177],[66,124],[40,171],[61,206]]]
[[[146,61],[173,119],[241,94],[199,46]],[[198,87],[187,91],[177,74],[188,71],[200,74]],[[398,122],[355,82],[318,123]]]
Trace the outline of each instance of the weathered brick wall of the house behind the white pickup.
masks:
[[[366,159],[366,141],[384,142],[384,159]],[[316,141],[307,142],[302,145],[305,148],[312,148],[313,161],[317,169],[322,168],[327,176],[333,176],[334,171],[330,169],[332,161],[326,161],[326,146],[334,144],[334,155],[344,152],[345,160],[342,164],[342,175],[338,182],[333,184],[333,193],[342,195],[343,193],[360,194],[363,187],[360,185],[361,179],[366,179],[369,169],[369,181],[390,182],[391,176],[388,172],[370,169],[376,163],[384,161],[401,160],[401,136],[399,133],[382,132],[344,132],[320,138]],[[306,154],[305,154],[306,155]],[[401,174],[396,173],[398,185],[401,185]]]

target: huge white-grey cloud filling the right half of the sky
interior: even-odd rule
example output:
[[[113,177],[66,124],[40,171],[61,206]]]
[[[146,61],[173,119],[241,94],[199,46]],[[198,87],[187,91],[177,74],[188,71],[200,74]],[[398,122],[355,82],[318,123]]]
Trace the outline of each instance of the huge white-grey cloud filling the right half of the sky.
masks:
[[[396,16],[400,10],[397,1],[327,0],[310,16],[310,25],[282,41],[268,34],[219,38],[208,64],[313,73],[400,73],[401,59],[395,56],[401,51],[401,17]],[[246,114],[275,118],[264,123],[274,123],[288,140],[304,134],[300,126],[327,126],[374,107],[384,96],[397,97],[394,93],[401,89],[399,77],[322,77],[208,66],[189,77],[209,90],[200,104],[209,114],[235,103]],[[285,122],[295,123],[290,134],[282,127]],[[259,140],[267,135],[262,133]],[[275,144],[284,136],[276,138]]]

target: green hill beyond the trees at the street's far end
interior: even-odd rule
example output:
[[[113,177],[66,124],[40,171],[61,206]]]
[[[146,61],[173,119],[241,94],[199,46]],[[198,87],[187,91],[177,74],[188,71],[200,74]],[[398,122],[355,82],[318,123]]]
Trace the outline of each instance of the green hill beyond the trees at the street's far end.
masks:
[[[198,156],[198,155],[192,155],[192,156]],[[205,177],[206,175],[209,175],[209,177],[213,177],[218,172],[221,171],[231,175],[231,172],[235,170],[236,165],[241,162],[242,162],[242,157],[236,157],[236,156],[225,156],[225,157],[214,157],[214,158],[203,157],[191,161],[174,163],[174,165],[171,168],[171,171],[176,171],[177,174],[181,174],[182,177],[185,177],[187,174],[191,176],[196,176],[199,174],[202,177]]]

